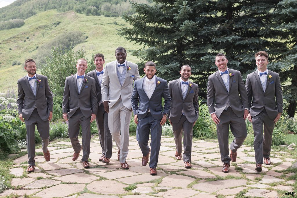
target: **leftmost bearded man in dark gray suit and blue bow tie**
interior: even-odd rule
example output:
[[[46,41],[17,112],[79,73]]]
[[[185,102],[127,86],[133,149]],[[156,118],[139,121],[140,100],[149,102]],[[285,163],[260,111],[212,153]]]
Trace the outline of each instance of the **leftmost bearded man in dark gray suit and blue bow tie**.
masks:
[[[48,85],[48,77],[36,74],[36,63],[33,59],[25,62],[27,75],[18,79],[18,113],[27,129],[27,172],[35,169],[35,125],[42,140],[42,151],[46,161],[50,161],[48,140],[50,138],[49,121],[53,116],[53,95]]]

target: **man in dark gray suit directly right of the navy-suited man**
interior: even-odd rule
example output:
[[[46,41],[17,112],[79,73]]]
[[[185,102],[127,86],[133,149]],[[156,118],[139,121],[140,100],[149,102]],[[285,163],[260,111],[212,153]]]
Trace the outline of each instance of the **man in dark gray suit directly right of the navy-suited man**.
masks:
[[[169,122],[172,125],[176,145],[176,159],[181,159],[182,132],[184,132],[184,164],[191,168],[191,153],[193,140],[193,127],[199,115],[198,85],[189,80],[191,67],[181,66],[181,77],[168,84],[172,99]]]

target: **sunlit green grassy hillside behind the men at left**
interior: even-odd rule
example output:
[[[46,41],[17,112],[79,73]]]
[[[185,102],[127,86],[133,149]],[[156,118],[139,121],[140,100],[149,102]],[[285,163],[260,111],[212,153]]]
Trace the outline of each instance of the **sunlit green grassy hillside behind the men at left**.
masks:
[[[59,25],[56,22],[60,22]],[[27,18],[25,25],[20,28],[0,31],[0,91],[16,89],[18,78],[26,75],[24,61],[36,57],[40,46],[70,31],[83,32],[87,37],[83,43],[74,47],[74,50],[83,49],[85,58],[91,59],[92,54],[102,53],[105,63],[108,63],[115,60],[116,47],[123,46],[127,49],[127,60],[139,61],[129,55],[129,50],[139,49],[139,46],[117,35],[118,30],[127,25],[120,17],[86,16],[74,11],[48,10]]]

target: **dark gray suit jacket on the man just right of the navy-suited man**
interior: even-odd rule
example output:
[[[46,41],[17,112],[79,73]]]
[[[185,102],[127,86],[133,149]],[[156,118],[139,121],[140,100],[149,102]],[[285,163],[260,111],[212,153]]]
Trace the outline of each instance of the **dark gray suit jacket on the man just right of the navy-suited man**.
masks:
[[[172,123],[178,123],[181,118],[181,112],[184,114],[189,122],[195,122],[199,115],[198,103],[198,85],[189,81],[189,86],[185,99],[181,91],[180,78],[172,80],[168,83],[168,89],[171,96],[171,108],[169,119]]]

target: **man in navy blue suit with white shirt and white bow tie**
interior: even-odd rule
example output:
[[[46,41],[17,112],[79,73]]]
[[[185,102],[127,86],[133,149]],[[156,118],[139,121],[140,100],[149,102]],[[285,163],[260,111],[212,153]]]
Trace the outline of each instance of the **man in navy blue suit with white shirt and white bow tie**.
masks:
[[[157,175],[162,125],[166,122],[170,111],[171,97],[167,81],[155,76],[156,64],[154,62],[146,62],[143,71],[146,76],[135,80],[131,103],[134,122],[137,124],[136,139],[143,154],[142,165],[146,166],[151,152],[150,174]],[[165,99],[164,111],[162,97]],[[151,149],[148,146],[150,131]]]

